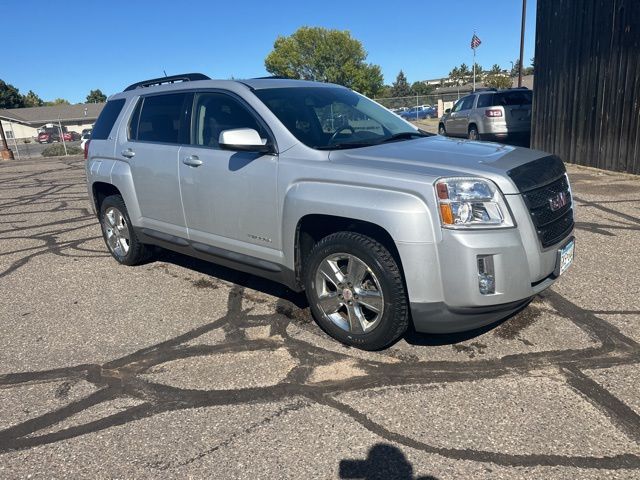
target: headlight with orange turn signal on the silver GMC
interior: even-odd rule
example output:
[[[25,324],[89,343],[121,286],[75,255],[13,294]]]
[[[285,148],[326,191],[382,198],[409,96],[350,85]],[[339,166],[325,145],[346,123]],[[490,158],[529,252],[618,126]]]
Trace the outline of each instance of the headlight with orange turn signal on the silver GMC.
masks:
[[[483,178],[441,178],[435,184],[440,221],[445,228],[512,227],[498,187]]]

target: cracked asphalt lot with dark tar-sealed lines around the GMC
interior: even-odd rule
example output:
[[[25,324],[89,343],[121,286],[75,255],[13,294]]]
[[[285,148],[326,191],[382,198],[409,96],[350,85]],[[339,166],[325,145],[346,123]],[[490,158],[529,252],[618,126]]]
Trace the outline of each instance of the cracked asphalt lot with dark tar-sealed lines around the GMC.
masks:
[[[81,159],[0,164],[0,478],[640,478],[640,180],[569,172],[550,290],[372,353],[257,277],[119,266]]]

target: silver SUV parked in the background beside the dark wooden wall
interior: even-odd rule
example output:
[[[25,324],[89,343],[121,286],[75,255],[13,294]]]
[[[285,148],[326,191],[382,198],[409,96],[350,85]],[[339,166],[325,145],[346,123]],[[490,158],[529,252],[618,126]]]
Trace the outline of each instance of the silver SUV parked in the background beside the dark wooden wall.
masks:
[[[525,141],[531,134],[531,100],[527,88],[484,90],[458,100],[440,118],[438,133],[469,140]]]

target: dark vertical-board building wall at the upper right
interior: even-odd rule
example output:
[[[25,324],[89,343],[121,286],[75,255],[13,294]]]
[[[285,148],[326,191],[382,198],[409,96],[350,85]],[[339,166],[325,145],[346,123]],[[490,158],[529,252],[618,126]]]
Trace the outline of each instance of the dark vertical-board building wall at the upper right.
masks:
[[[640,0],[538,0],[531,144],[640,174]]]

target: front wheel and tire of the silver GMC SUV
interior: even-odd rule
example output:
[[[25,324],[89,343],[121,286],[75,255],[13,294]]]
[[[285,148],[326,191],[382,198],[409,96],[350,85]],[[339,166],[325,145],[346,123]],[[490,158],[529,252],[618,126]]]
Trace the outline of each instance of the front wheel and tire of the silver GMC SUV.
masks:
[[[320,240],[306,259],[304,285],[318,325],[346,345],[380,350],[408,328],[400,268],[366,235],[337,232]]]

